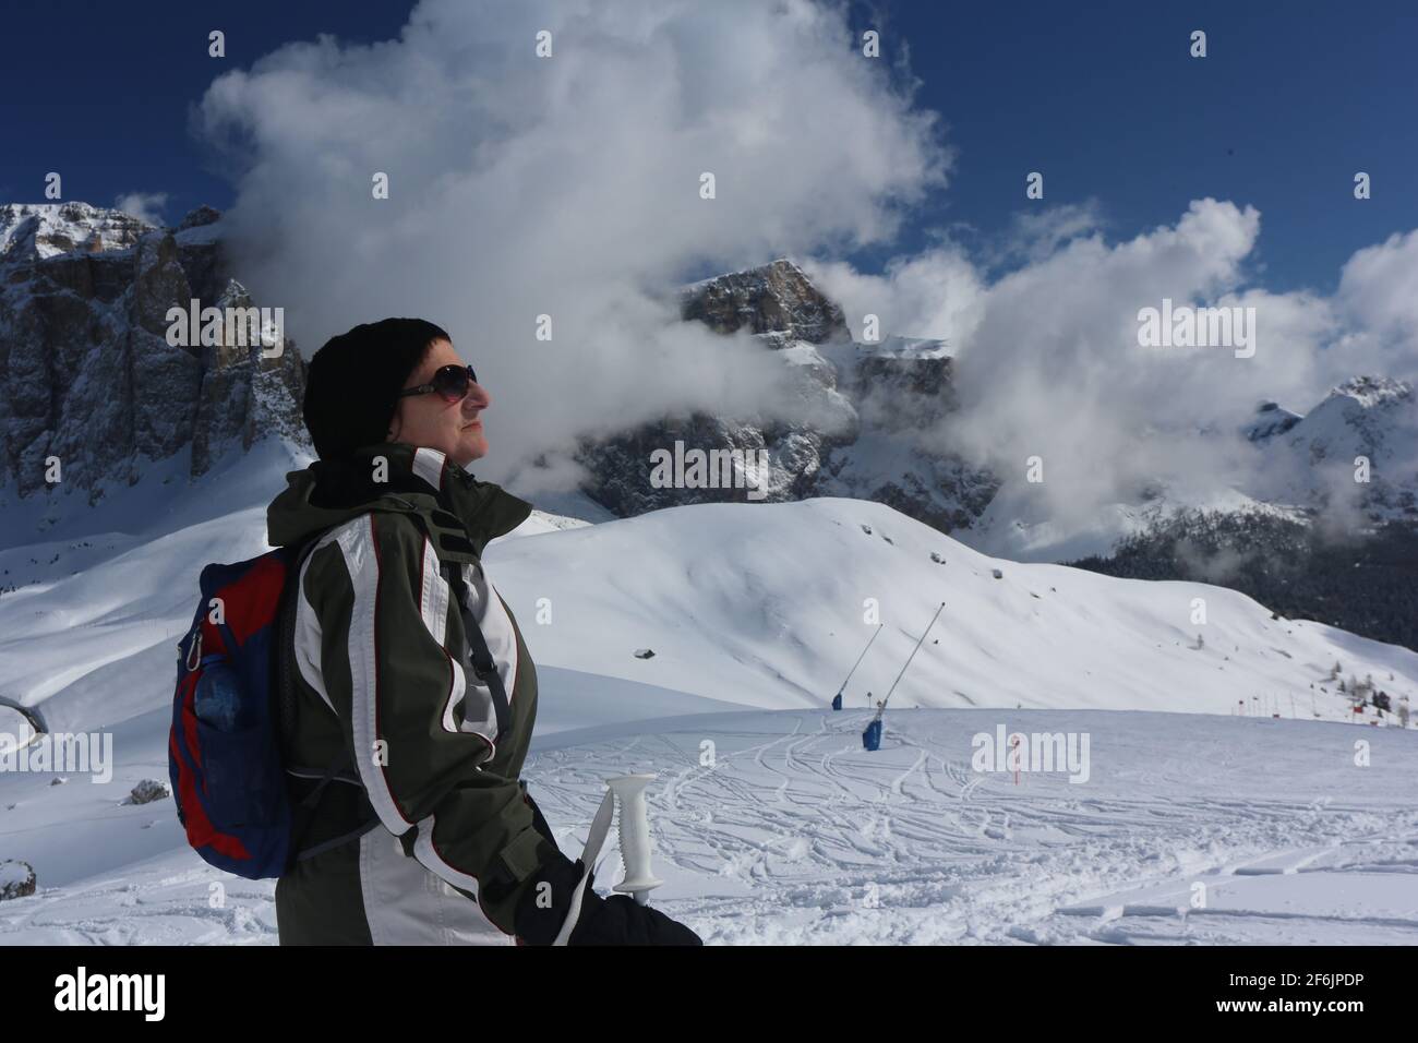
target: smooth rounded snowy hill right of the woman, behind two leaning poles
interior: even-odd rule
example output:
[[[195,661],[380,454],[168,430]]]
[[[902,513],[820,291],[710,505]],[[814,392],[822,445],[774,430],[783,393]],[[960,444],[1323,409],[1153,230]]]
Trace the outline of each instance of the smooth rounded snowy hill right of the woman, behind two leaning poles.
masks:
[[[878,695],[946,603],[892,705],[1228,714],[1252,695],[1307,701],[1314,684],[1316,707],[1334,715],[1343,701],[1319,688],[1336,660],[1346,674],[1394,673],[1385,687],[1418,700],[1418,654],[1405,649],[1272,620],[1224,587],[986,558],[855,500],[671,508],[506,542],[489,562],[519,619],[550,599],[550,624],[526,626],[537,661],[744,705],[835,692],[871,636],[868,599],[885,630],[854,680]],[[1195,599],[1204,626],[1190,622]],[[647,646],[654,658],[632,656]]]

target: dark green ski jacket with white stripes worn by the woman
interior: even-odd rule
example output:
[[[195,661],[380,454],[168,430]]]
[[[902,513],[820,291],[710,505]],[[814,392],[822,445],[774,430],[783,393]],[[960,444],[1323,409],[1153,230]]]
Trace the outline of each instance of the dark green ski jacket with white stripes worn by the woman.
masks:
[[[381,827],[277,881],[281,944],[510,944],[527,878],[557,849],[518,779],[536,668],[479,558],[532,507],[438,450],[401,443],[316,461],[286,481],[267,512],[268,542],[320,535],[298,578],[284,752],[298,771],[353,765],[349,782],[325,788],[299,846],[349,834],[370,807]],[[510,735],[467,666],[462,616],[431,538],[462,570]]]

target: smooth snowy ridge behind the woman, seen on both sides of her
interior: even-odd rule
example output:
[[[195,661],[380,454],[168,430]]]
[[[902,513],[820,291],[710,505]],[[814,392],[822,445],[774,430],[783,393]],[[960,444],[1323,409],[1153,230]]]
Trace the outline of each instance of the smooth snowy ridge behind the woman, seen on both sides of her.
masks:
[[[160,707],[200,566],[267,549],[265,502],[298,458],[234,457],[194,488],[135,488],[105,524],[75,515],[43,545],[0,551],[0,572],[23,583],[0,596],[4,694],[95,725]],[[871,633],[868,606],[886,629],[859,680],[881,691],[942,602],[893,705],[1228,714],[1271,692],[1339,718],[1347,707],[1326,680],[1336,660],[1418,702],[1418,653],[1272,619],[1224,587],[990,558],[882,504],[700,504],[597,525],[535,517],[515,536],[491,545],[488,565],[539,664],[746,708],[830,698]],[[536,623],[543,597],[552,624]],[[647,647],[655,656],[637,658]],[[99,683],[130,670],[122,698]]]

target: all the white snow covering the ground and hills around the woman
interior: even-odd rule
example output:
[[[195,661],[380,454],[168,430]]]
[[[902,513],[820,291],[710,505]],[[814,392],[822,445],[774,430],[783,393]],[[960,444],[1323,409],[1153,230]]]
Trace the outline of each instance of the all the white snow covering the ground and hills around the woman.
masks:
[[[0,565],[23,585],[0,596],[0,695],[112,732],[115,763],[106,785],[0,772],[0,853],[38,881],[0,903],[0,944],[275,942],[272,881],[208,868],[170,799],[122,802],[166,779],[201,563],[267,549],[299,458],[258,443],[95,511],[6,508],[24,524]],[[1221,587],[991,558],[856,500],[539,512],[486,565],[536,660],[523,775],[563,850],[603,779],[655,772],[651,901],[706,941],[1418,942],[1418,731],[1358,727],[1327,681],[1340,660],[1418,701],[1409,650]],[[868,754],[866,692],[940,602]],[[834,714],[872,606],[885,629]],[[974,771],[997,728],[1086,735],[1086,782]],[[613,857],[597,883],[618,876]]]

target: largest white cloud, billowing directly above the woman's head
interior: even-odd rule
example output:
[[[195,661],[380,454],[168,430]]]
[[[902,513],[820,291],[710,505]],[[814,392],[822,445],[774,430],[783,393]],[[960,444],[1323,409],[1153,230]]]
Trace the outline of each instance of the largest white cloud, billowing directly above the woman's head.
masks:
[[[951,162],[844,10],[801,0],[425,0],[398,40],[224,74],[194,126],[255,299],[306,356],[389,315],[448,329],[492,393],[492,478],[666,412],[771,412],[777,368],[679,324],[674,281],[891,241]]]

